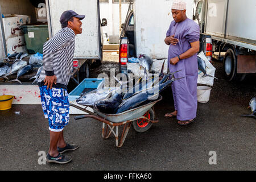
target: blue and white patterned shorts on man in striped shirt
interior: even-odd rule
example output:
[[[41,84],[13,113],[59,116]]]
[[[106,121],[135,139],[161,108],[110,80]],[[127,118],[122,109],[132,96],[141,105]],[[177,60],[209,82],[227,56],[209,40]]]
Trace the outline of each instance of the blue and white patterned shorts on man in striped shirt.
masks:
[[[49,130],[60,132],[69,122],[69,101],[66,89],[40,87],[44,117],[48,118]]]

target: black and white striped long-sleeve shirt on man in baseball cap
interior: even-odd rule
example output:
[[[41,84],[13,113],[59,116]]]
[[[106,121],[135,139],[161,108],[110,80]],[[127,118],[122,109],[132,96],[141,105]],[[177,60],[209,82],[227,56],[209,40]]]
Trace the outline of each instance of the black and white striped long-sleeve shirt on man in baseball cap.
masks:
[[[75,36],[71,28],[65,27],[44,43],[43,68],[38,78],[39,86],[44,85],[46,76],[55,75],[57,84],[53,84],[52,87],[67,89],[73,69]]]

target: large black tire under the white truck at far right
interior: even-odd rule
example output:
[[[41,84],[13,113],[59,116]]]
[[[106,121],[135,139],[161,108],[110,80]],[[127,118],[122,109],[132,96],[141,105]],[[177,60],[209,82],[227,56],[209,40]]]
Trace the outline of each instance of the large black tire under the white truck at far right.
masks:
[[[223,68],[225,78],[228,81],[243,81],[246,74],[237,73],[237,56],[235,55],[233,49],[228,49],[226,51]]]

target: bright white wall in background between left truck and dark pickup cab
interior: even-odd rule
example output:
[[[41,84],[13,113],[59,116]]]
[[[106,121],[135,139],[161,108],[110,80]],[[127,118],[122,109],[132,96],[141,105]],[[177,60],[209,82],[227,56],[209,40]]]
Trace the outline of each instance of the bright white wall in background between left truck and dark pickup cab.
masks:
[[[125,23],[125,18],[129,3],[122,3],[122,23]],[[108,35],[119,35],[119,3],[100,3],[100,17],[108,20],[108,26],[103,27],[103,31]]]

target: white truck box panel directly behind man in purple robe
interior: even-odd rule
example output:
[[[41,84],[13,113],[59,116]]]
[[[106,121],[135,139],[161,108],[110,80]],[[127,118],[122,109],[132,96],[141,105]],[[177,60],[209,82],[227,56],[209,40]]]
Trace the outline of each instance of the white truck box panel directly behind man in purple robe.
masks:
[[[187,3],[187,17],[192,19],[193,1]],[[137,56],[146,54],[152,59],[167,59],[168,46],[164,44],[166,32],[173,20],[173,0],[135,0],[135,47]],[[145,11],[146,10],[146,11]]]

